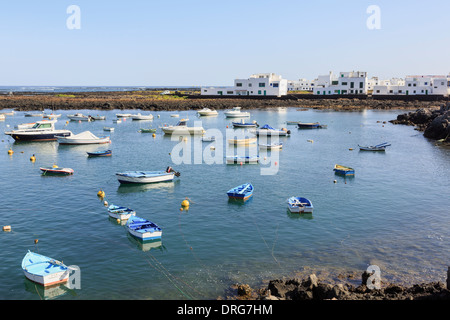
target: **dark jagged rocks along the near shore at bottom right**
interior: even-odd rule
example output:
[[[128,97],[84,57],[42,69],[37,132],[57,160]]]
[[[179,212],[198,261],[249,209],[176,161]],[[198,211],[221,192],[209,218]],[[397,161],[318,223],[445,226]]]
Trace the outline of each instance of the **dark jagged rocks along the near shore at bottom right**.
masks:
[[[349,283],[330,284],[316,274],[305,279],[271,280],[266,288],[253,290],[249,285],[233,286],[235,300],[450,300],[450,267],[447,283],[430,282],[411,287],[382,283],[376,286],[373,274],[361,275],[358,286]]]

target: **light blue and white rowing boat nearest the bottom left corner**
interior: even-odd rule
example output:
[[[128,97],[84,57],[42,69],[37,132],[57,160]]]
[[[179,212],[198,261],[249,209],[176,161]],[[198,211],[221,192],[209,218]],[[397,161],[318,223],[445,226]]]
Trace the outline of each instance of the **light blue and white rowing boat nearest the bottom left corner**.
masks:
[[[25,277],[44,287],[69,280],[69,268],[64,263],[30,250],[22,259],[22,270]]]

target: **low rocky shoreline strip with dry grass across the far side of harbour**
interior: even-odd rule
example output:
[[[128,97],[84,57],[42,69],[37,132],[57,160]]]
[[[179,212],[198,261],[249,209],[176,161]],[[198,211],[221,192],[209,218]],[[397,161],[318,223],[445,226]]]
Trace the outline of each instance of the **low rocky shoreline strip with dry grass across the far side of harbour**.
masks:
[[[198,96],[197,96],[198,97]],[[404,101],[372,99],[197,99],[195,95],[162,96],[152,91],[130,92],[21,92],[0,95],[0,110],[144,110],[183,111],[214,108],[217,110],[240,106],[243,109],[298,107],[332,110],[418,109],[437,108],[442,101]]]

